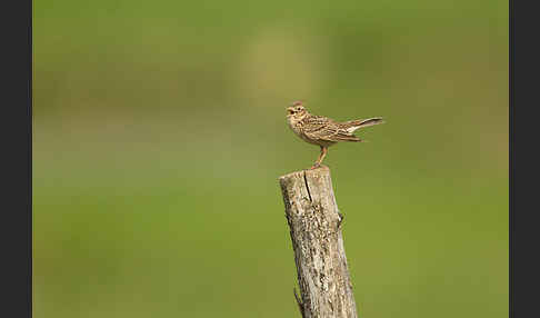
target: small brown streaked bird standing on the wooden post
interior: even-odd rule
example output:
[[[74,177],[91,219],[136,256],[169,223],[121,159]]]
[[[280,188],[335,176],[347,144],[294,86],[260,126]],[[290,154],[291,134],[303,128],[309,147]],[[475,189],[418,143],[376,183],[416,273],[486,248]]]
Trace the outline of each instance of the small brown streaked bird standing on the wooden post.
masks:
[[[323,116],[309,113],[301,101],[294,101],[291,107],[287,108],[287,123],[292,131],[304,141],[321,148],[321,153],[311,169],[321,166],[322,159],[327,156],[328,147],[340,141],[360,142],[362,140],[353,135],[354,131],[383,122],[380,117],[338,122]]]

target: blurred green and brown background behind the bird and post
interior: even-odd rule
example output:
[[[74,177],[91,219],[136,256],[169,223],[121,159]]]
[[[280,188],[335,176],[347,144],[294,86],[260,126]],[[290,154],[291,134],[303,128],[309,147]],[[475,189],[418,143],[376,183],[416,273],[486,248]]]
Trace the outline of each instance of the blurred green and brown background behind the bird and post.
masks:
[[[300,317],[284,108],[361,317],[508,317],[508,1],[33,3],[36,317]]]

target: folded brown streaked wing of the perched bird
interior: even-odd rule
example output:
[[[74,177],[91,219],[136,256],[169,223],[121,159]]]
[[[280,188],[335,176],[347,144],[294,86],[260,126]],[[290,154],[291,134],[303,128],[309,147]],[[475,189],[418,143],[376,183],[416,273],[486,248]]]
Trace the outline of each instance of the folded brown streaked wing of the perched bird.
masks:
[[[303,133],[310,139],[324,141],[360,141],[360,138],[341,128],[336,121],[322,116],[310,116],[303,120]]]

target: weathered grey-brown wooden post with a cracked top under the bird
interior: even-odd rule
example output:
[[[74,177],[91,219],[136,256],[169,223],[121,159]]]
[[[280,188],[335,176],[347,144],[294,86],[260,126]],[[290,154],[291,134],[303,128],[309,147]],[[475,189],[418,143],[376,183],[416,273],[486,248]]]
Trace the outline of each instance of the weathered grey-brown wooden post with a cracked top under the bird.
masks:
[[[330,169],[296,171],[279,178],[289,223],[303,318],[357,318],[341,236],[342,216]]]

